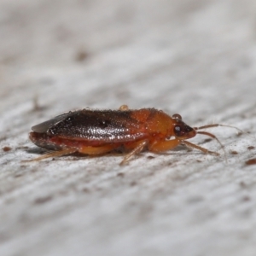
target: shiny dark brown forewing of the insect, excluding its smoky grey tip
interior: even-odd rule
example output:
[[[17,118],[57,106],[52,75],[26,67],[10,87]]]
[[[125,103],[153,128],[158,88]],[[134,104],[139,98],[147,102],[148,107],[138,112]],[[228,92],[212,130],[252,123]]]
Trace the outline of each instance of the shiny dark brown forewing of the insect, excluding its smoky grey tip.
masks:
[[[47,134],[106,143],[128,142],[145,137],[144,125],[132,119],[131,113],[132,110],[79,110],[56,117],[54,125],[49,120]]]

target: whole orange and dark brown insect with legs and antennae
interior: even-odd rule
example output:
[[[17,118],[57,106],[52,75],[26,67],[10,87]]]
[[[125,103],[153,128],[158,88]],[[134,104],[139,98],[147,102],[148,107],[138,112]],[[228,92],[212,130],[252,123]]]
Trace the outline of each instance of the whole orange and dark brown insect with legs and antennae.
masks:
[[[120,163],[125,164],[143,149],[160,153],[179,144],[199,149],[206,154],[218,155],[217,152],[187,141],[196,134],[203,134],[217,140],[224,148],[212,133],[200,131],[217,126],[236,128],[219,124],[192,128],[177,113],[169,116],[155,108],[134,110],[123,105],[119,110],[82,109],[63,113],[32,126],[29,138],[38,147],[50,150],[48,154],[34,160],[73,153],[100,155],[121,149],[128,152]]]

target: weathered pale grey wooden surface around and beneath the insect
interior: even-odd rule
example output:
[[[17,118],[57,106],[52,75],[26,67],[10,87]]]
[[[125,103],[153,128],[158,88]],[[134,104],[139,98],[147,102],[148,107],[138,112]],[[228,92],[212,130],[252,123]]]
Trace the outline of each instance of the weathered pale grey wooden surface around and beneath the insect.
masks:
[[[1,0],[0,255],[255,255],[255,17],[254,0]],[[204,136],[221,156],[20,162],[43,153],[32,125],[122,104],[250,135],[210,130],[227,162]]]

